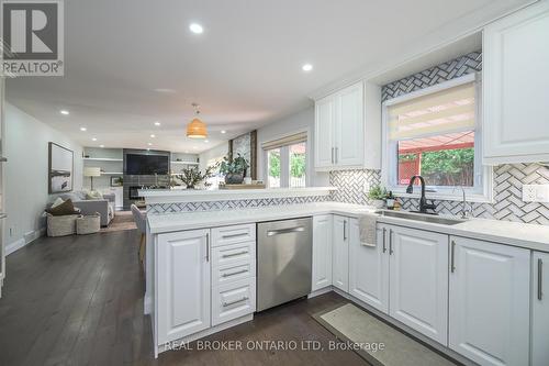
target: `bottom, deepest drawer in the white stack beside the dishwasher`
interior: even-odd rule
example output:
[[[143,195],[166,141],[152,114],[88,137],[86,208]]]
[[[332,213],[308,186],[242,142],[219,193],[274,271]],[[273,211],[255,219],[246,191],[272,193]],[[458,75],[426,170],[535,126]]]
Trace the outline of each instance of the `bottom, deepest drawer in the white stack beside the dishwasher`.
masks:
[[[212,325],[250,314],[256,310],[256,277],[221,285],[212,291]]]

